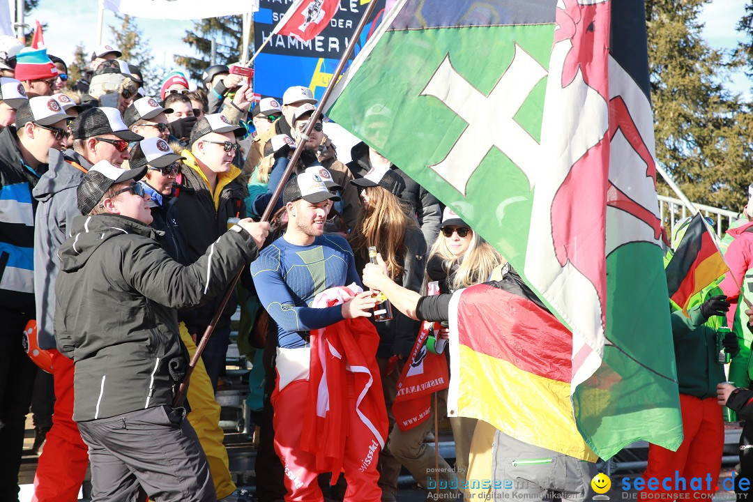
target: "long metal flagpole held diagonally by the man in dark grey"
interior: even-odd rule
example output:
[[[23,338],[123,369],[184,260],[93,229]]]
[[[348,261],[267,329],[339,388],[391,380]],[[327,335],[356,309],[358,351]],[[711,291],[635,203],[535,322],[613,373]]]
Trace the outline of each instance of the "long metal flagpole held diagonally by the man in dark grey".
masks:
[[[322,109],[324,108],[325,103],[329,99],[329,96],[332,93],[332,90],[334,89],[334,84],[337,83],[337,79],[340,78],[340,74],[343,73],[343,69],[345,68],[345,65],[347,64],[348,59],[350,59],[350,56],[352,55],[353,50],[355,50],[355,44],[358,42],[358,38],[361,37],[361,32],[364,31],[364,26],[366,26],[366,23],[368,22],[369,17],[371,17],[371,14],[373,14],[374,8],[376,8],[376,6],[377,6],[377,1],[371,0],[371,2],[369,2],[369,6],[366,8],[366,11],[364,12],[364,15],[361,17],[361,20],[358,21],[358,26],[355,27],[353,35],[349,40],[348,47],[346,47],[346,50],[343,53],[343,56],[340,57],[340,62],[337,63],[337,68],[335,68],[334,74],[332,75],[332,79],[329,81],[329,84],[327,84],[325,93],[322,95],[322,98],[319,99],[319,103],[316,105],[316,110],[311,115],[312,118],[319,117],[319,115],[322,114]],[[259,50],[261,50],[261,47],[259,47]],[[314,129],[315,125],[316,125],[316,120],[309,120],[309,125],[306,126],[306,131],[303,132],[303,138],[308,138],[311,135],[311,132]],[[277,199],[279,199],[280,194],[282,194],[282,189],[285,187],[285,183],[288,182],[288,178],[290,178],[290,175],[293,173],[295,169],[295,165],[298,162],[298,159],[300,159],[300,154],[303,151],[303,145],[306,145],[305,141],[300,141],[298,145],[296,146],[295,151],[293,152],[293,157],[291,157],[290,163],[288,163],[288,167],[286,167],[285,171],[282,173],[282,179],[280,180],[277,187],[275,187],[275,190],[272,193],[272,199],[270,199],[270,202],[267,204],[267,208],[264,209],[264,214],[261,215],[260,221],[269,221],[270,216],[272,215],[272,211],[275,206],[275,202],[277,202]],[[194,368],[196,368],[196,365],[199,362],[199,357],[201,357],[201,354],[203,353],[204,348],[206,348],[206,344],[207,342],[209,342],[209,336],[212,336],[212,332],[215,330],[215,326],[220,320],[220,315],[222,315],[222,312],[224,311],[225,306],[227,305],[227,302],[230,300],[230,296],[233,294],[233,291],[235,291],[236,284],[238,284],[238,280],[242,272],[243,272],[243,269],[241,268],[238,271],[238,274],[235,276],[235,278],[233,278],[233,280],[230,281],[230,286],[229,288],[227,288],[227,292],[225,293],[225,296],[222,299],[220,306],[217,309],[217,312],[215,312],[215,315],[212,316],[212,321],[209,323],[209,326],[206,327],[206,330],[204,331],[204,334],[201,337],[201,341],[199,342],[199,346],[197,347],[196,352],[194,353],[194,357],[191,357],[191,363],[188,364],[186,375],[184,376],[183,381],[181,382],[181,385],[178,388],[178,393],[175,394],[175,398],[172,400],[172,406],[178,406],[178,404],[183,399],[185,391],[188,387],[188,381],[191,379],[191,373],[194,373]]]

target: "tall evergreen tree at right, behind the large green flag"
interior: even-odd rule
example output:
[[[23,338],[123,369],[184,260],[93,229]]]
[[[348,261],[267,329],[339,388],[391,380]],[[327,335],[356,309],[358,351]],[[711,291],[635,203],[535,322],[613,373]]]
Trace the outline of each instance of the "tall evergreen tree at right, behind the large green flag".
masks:
[[[701,37],[707,2],[646,2],[656,157],[691,201],[740,210],[753,181],[753,123],[748,104],[722,84],[739,63]]]

